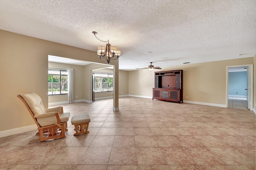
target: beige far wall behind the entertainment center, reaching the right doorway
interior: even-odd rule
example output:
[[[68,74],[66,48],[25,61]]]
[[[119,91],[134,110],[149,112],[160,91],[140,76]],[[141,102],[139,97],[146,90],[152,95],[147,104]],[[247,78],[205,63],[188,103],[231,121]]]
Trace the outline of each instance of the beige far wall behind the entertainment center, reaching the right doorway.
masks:
[[[253,64],[253,62],[254,58],[249,57],[170,66],[162,68],[161,71],[184,70],[183,100],[226,105],[226,66]],[[150,76],[150,71],[147,69],[130,71],[129,94],[152,97],[152,88],[154,87],[153,75],[152,72],[152,76]],[[144,94],[142,94],[143,92]]]

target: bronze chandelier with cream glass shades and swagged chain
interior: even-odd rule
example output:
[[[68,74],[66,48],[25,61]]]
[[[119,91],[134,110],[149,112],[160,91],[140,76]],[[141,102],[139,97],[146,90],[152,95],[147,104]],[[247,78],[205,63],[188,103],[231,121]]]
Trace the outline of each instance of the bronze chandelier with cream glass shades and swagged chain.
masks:
[[[94,36],[96,37],[97,32],[93,31],[92,32],[94,34]],[[98,39],[98,37],[96,37],[96,39]],[[98,39],[100,40],[100,39]],[[100,40],[102,41],[102,40]],[[111,46],[111,44],[108,41],[102,41],[102,42],[108,42],[106,44],[106,49],[104,46],[99,46],[98,47],[98,51],[97,54],[100,57],[101,60],[106,60],[107,63],[110,63],[110,60],[117,60],[118,57],[121,55],[121,51],[117,50],[117,47],[115,46]]]

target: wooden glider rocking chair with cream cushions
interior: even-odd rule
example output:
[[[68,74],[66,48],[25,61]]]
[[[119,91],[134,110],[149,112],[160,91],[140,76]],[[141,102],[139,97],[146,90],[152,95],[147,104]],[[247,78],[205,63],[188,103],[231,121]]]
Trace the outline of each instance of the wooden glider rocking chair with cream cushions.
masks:
[[[67,121],[70,113],[63,113],[63,107],[45,109],[40,96],[34,92],[29,94],[18,94],[18,98],[27,107],[38,126],[39,141],[58,139],[66,137]]]

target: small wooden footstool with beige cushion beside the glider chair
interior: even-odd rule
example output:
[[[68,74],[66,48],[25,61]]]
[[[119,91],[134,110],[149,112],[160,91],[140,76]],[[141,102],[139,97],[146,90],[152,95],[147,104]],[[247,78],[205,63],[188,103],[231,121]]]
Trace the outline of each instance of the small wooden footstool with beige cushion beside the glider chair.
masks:
[[[74,130],[76,131],[76,133],[74,133],[74,136],[89,133],[88,126],[90,121],[90,116],[87,114],[74,115],[71,119],[72,125],[75,125]]]

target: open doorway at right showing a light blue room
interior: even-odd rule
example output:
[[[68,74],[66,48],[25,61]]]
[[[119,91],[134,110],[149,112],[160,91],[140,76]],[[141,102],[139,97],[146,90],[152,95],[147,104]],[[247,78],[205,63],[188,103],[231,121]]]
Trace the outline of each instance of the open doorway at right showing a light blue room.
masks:
[[[227,66],[226,106],[252,110],[253,65]]]

